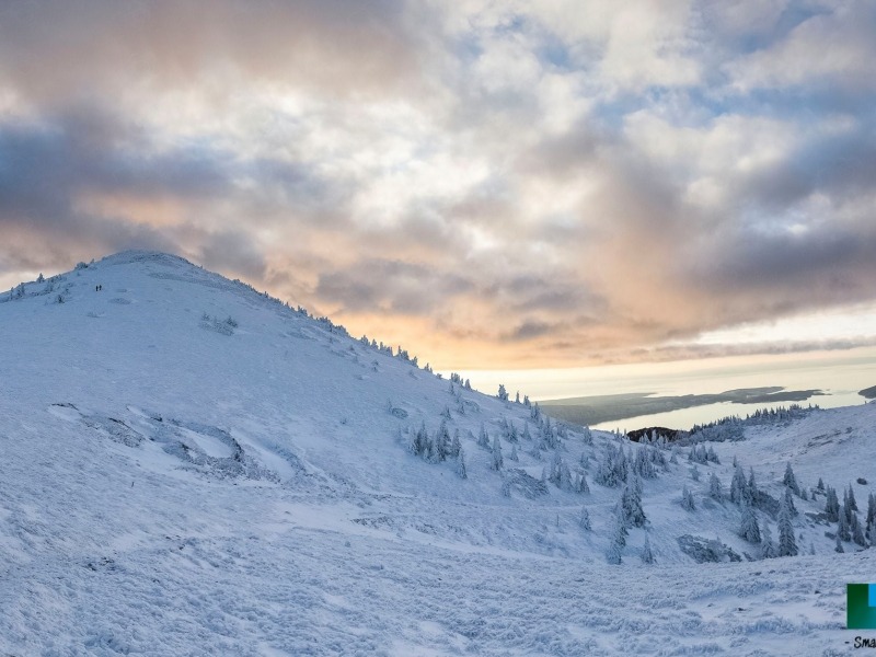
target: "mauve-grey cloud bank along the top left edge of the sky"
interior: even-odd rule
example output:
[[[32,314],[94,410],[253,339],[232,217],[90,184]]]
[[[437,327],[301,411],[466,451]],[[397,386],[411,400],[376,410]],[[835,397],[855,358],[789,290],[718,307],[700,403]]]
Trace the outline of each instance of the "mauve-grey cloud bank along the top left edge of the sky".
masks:
[[[418,50],[396,0],[23,0],[0,5],[0,80],[41,102],[185,88],[218,69],[346,94],[393,85]]]

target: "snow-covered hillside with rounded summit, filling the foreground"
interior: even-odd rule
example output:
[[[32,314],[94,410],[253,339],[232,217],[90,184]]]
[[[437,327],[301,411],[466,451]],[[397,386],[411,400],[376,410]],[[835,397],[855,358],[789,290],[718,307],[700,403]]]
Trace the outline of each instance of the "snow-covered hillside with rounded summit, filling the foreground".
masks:
[[[539,494],[555,450],[520,438],[514,462],[503,438],[529,423],[539,440],[529,408],[451,392],[175,256],[125,252],[3,293],[0,334],[0,653],[842,654],[844,585],[876,574],[873,551],[833,552],[823,498],[796,500],[814,556],[696,564],[678,541],[758,557],[738,507],[708,497],[734,456],[775,498],[788,461],[805,486],[866,477],[865,508],[874,404],[750,427],[699,482],[681,450],[644,481],[648,525],[614,566],[621,488],[593,475],[606,446],[639,446],[569,428],[558,453],[590,493]],[[407,449],[442,419],[468,479]]]

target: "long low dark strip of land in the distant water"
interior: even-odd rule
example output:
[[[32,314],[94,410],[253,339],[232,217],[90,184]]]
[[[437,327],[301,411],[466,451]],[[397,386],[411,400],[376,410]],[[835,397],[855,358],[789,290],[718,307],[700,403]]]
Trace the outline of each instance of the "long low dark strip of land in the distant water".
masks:
[[[876,387],[861,392],[876,397]],[[539,405],[549,415],[579,425],[596,425],[638,415],[666,413],[692,406],[731,402],[736,404],[768,404],[781,402],[805,402],[809,397],[823,395],[820,390],[785,390],[779,385],[765,388],[740,388],[716,394],[684,394],[654,396],[653,392],[606,394],[596,396],[546,400]],[[868,397],[872,399],[872,397]]]

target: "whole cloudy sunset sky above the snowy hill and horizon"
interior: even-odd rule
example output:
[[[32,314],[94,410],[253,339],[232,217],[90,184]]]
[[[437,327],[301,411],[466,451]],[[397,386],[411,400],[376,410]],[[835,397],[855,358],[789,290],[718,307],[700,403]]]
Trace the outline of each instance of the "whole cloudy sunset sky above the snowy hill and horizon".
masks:
[[[440,368],[876,343],[872,0],[0,3],[0,284],[172,251]]]

